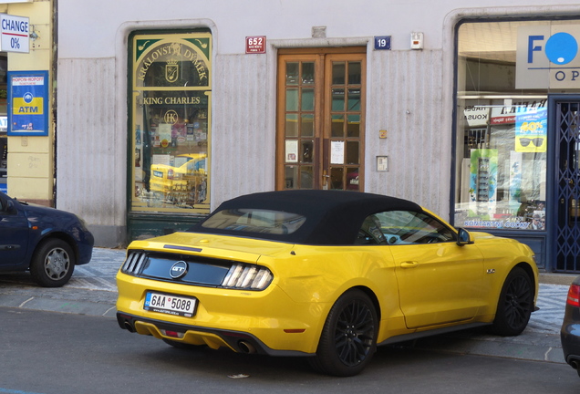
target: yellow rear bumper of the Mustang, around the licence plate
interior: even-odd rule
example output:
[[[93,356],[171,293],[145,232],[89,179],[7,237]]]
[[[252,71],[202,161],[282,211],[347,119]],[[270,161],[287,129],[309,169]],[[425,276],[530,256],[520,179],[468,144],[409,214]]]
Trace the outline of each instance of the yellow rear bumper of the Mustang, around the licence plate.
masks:
[[[264,291],[243,291],[161,282],[121,272],[117,275],[117,285],[117,310],[123,316],[119,322],[122,328],[161,339],[207,344],[213,348],[229,347],[234,351],[241,351],[241,341],[250,341],[256,352],[275,356],[316,353],[331,306],[295,302],[276,285]],[[194,316],[145,309],[148,292],[195,298]],[[180,337],[163,334],[162,329],[179,333]]]

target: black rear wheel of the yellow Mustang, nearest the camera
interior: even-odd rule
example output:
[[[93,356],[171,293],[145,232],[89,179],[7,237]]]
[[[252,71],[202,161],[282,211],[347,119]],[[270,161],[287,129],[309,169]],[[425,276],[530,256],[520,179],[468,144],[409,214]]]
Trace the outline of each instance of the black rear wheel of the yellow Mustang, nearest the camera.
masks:
[[[308,361],[327,375],[357,375],[377,349],[377,333],[378,316],[372,301],[361,290],[349,290],[330,309],[316,356]]]

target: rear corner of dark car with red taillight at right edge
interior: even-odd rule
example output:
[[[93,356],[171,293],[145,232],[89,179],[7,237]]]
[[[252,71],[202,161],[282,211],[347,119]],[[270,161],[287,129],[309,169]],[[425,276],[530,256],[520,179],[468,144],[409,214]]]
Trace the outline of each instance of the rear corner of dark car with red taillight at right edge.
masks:
[[[565,361],[580,376],[580,276],[575,278],[568,290],[560,337]]]

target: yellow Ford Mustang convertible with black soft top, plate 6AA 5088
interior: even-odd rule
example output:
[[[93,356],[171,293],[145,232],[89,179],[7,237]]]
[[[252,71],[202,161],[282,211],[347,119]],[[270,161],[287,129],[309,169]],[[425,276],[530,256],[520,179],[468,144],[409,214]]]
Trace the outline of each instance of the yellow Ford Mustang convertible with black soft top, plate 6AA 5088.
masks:
[[[191,231],[129,245],[119,326],[175,347],[306,356],[356,375],[379,345],[489,325],[520,334],[533,252],[456,230],[414,202],[338,191],[223,202]]]

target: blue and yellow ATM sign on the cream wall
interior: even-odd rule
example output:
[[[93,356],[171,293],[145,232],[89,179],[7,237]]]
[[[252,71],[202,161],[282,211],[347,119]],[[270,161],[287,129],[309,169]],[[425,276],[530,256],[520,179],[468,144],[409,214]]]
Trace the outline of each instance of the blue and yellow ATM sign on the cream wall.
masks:
[[[48,135],[48,71],[8,71],[8,135]]]

